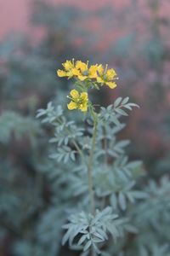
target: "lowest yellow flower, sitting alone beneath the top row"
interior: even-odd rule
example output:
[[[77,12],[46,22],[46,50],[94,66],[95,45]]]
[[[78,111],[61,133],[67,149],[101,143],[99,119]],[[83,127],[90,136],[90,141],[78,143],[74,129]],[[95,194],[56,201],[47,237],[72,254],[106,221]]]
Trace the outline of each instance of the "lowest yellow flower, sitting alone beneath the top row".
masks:
[[[71,102],[67,104],[69,110],[73,109],[81,109],[82,112],[86,112],[88,110],[88,93],[82,92],[80,95],[77,90],[71,90],[71,97],[67,96],[71,99]]]

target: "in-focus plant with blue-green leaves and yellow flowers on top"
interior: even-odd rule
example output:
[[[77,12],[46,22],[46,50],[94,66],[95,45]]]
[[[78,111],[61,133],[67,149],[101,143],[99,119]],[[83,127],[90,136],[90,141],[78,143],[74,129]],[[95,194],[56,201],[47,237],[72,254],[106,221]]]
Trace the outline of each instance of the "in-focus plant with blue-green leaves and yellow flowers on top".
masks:
[[[63,211],[69,222],[63,225],[66,233],[62,244],[69,241],[69,246],[82,250],[83,256],[112,255],[111,236],[116,242],[128,232],[137,232],[132,219],[124,217],[128,204],[147,198],[136,186],[141,162],[127,159],[127,140],[116,141],[116,133],[125,126],[120,118],[138,105],[128,97],[119,97],[107,108],[96,109],[88,91],[99,90],[104,84],[114,89],[115,70],[101,64],[88,67],[88,62],[75,63],[74,59],[65,61],[63,67],[57,71],[59,77],[75,79],[67,108],[87,113],[86,129],[67,121],[63,108],[54,108],[51,102],[37,113],[42,122],[55,128],[50,142],[57,143],[57,150],[50,157],[67,166],[65,173],[59,172],[61,187],[65,183],[71,189],[66,196],[67,211]]]

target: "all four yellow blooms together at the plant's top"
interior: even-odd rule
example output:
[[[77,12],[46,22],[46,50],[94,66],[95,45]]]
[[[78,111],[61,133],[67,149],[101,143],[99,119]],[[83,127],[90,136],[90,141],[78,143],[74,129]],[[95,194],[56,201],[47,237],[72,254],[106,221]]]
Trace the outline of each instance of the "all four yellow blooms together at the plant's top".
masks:
[[[62,64],[64,70],[58,69],[57,73],[59,77],[68,77],[71,79],[72,77],[79,79],[80,81],[84,81],[88,79],[88,81],[97,82],[100,85],[106,84],[111,89],[116,87],[116,83],[114,80],[116,79],[116,72],[113,68],[108,69],[108,65],[103,67],[102,64],[91,65],[88,67],[87,63],[82,61],[65,61]],[[94,79],[94,81],[92,80]],[[82,90],[84,89],[82,86]],[[72,109],[80,109],[82,112],[86,112],[88,110],[88,93],[83,91],[80,95],[77,90],[71,90],[71,96],[67,96],[71,99],[71,102],[67,104],[67,107]]]

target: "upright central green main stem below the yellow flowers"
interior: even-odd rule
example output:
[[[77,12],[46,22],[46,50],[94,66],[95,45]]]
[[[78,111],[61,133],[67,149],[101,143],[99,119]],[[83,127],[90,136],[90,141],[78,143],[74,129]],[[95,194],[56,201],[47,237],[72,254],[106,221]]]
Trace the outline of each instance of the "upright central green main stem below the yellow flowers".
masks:
[[[94,109],[92,108],[92,115],[94,118],[94,132],[92,137],[92,147],[90,151],[90,156],[88,160],[88,189],[89,189],[89,195],[90,195],[90,201],[91,201],[91,211],[95,212],[95,204],[94,204],[94,183],[92,179],[92,165],[94,160],[94,148],[95,148],[95,140],[96,140],[96,134],[97,134],[97,118],[94,113]]]

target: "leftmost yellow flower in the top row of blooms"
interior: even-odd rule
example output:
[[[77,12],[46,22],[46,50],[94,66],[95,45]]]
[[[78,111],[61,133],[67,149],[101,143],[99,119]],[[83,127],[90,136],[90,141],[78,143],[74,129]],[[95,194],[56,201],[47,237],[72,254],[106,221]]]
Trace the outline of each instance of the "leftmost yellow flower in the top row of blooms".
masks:
[[[59,77],[69,77],[80,75],[80,72],[77,70],[74,64],[74,59],[72,61],[65,61],[62,63],[65,70],[58,69],[57,74]]]

